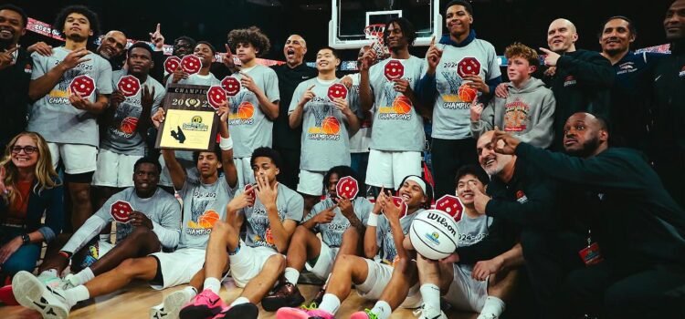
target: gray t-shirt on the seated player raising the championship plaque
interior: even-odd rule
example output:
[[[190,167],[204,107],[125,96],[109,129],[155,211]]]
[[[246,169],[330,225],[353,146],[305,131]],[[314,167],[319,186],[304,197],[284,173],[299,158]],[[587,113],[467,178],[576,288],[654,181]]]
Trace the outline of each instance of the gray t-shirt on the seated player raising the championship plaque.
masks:
[[[214,223],[226,220],[226,205],[234,193],[223,176],[212,184],[185,179],[179,191],[184,201],[184,217],[178,248],[205,249]]]

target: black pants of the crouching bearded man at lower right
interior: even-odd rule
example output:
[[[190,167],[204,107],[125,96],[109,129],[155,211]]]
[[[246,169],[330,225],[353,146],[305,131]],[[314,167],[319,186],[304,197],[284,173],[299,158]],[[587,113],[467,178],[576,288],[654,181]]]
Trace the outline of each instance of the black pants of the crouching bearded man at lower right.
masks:
[[[617,276],[601,262],[570,273],[562,291],[569,318],[685,318],[685,270],[674,266]]]

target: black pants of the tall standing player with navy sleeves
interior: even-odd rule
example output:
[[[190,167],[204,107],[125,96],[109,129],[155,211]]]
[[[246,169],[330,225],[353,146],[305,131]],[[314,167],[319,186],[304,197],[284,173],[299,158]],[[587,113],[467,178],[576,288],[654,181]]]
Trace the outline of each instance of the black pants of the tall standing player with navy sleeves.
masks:
[[[433,139],[431,145],[435,199],[454,195],[457,189],[457,170],[463,165],[478,163],[476,139]]]

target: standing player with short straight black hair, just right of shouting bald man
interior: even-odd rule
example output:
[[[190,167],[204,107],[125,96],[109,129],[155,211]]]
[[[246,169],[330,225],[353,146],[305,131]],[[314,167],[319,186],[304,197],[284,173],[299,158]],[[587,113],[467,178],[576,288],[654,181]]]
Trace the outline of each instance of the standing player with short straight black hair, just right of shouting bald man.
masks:
[[[290,128],[302,126],[300,183],[305,214],[323,194],[323,175],[334,166],[350,166],[350,134],[359,129],[359,118],[350,108],[350,94],[335,77],[340,58],[332,47],[316,54],[317,77],[295,89],[288,110]]]

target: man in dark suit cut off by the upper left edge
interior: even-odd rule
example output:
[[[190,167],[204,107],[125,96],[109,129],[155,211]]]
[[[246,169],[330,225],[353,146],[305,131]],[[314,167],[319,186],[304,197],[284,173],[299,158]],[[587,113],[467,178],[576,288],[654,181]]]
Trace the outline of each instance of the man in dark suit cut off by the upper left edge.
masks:
[[[0,5],[0,149],[26,129],[28,82],[33,60],[18,46],[26,34],[28,17],[15,5]]]

